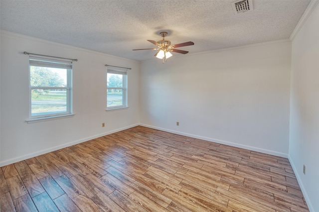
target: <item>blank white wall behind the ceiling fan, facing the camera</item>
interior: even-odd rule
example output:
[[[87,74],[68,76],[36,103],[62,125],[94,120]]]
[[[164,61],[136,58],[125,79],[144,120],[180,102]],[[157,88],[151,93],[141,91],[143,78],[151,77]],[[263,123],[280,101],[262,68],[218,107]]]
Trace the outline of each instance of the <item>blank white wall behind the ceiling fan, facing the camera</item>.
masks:
[[[141,124],[288,157],[290,71],[290,41],[144,62]]]

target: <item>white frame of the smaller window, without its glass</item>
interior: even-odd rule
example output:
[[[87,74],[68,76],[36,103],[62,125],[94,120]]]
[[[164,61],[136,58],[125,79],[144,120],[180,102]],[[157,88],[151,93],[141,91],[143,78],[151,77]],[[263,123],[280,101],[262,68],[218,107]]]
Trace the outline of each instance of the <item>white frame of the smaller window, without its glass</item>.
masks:
[[[126,108],[128,107],[128,75],[127,75],[127,69],[125,68],[117,68],[117,67],[110,67],[107,70],[107,74],[118,74],[122,75],[122,87],[108,87],[106,84],[106,110],[112,110],[112,109],[120,109],[120,108]],[[108,75],[106,74],[106,80],[108,78]],[[119,89],[123,90],[123,104],[120,106],[108,106],[108,89]]]

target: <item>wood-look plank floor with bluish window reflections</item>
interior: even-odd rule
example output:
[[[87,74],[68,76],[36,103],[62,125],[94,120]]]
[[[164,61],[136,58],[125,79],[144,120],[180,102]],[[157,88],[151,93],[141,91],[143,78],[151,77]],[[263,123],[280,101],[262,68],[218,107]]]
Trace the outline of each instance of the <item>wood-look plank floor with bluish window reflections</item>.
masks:
[[[142,126],[0,169],[3,212],[307,212],[289,160]]]

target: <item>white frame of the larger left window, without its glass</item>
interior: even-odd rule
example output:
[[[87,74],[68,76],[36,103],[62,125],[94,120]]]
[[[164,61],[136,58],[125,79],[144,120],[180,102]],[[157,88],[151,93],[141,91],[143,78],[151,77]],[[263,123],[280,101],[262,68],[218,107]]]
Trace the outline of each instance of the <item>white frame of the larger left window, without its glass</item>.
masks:
[[[61,68],[67,70],[66,86],[61,87],[42,87],[42,86],[31,86],[31,66],[47,67],[47,68]],[[32,115],[32,95],[33,89],[62,89],[66,90],[66,111],[54,112],[42,115]],[[29,119],[27,121],[55,118],[68,116],[72,114],[72,61],[71,60],[57,60],[54,57],[34,57],[29,56]]]

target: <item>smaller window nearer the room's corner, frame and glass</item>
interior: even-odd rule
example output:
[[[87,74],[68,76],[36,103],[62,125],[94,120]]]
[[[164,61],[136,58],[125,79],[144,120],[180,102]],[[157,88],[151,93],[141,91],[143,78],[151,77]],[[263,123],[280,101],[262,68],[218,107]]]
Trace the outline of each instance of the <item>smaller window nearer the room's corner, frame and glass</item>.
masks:
[[[127,107],[127,69],[108,68],[107,109]]]

